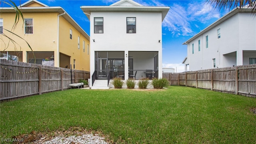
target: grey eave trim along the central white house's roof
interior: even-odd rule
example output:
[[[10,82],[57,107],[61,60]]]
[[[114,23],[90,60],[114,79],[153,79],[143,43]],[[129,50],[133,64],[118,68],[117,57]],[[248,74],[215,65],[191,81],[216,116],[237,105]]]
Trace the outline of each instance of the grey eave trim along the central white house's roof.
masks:
[[[87,18],[90,20],[91,12],[161,12],[162,21],[168,13],[168,6],[81,6]]]

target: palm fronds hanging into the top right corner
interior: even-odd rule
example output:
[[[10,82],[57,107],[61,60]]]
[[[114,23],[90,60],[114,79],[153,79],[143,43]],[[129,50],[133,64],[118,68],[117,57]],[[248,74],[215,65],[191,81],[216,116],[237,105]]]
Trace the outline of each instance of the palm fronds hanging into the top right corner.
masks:
[[[234,8],[252,8],[252,12],[256,12],[256,0],[207,0],[210,6],[220,9]]]

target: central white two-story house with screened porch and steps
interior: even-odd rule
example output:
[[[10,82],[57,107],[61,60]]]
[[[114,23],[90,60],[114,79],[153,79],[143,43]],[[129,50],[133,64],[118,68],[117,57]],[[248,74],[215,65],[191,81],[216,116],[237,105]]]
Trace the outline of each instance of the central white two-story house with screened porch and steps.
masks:
[[[90,20],[92,89],[109,88],[108,81],[114,77],[162,77],[162,21],[170,7],[120,0],[81,9]]]

